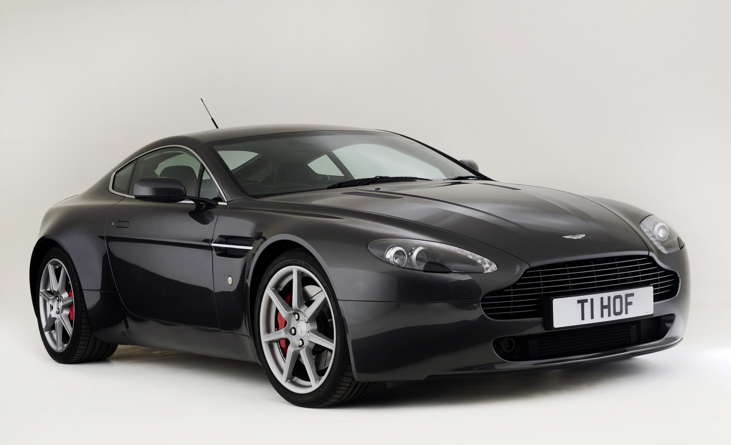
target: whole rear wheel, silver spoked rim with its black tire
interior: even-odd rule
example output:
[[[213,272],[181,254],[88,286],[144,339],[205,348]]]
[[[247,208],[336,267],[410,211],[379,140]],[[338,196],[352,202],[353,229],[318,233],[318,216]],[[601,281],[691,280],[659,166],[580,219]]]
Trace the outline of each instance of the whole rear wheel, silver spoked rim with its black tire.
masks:
[[[91,332],[79,277],[69,254],[56,246],[44,256],[38,271],[34,308],[43,345],[59,363],[102,360],[117,345]]]

